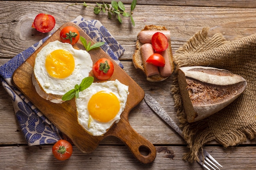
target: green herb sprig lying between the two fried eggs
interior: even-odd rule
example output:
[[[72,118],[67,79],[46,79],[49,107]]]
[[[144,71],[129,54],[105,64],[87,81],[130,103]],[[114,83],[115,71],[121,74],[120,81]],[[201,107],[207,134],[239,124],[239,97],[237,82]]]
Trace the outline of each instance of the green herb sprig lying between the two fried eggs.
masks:
[[[81,84],[76,84],[74,89],[68,91],[62,96],[63,101],[71,100],[74,97],[78,98],[79,97],[79,92],[84,91],[86,88],[88,88],[92,83],[93,83],[94,78],[89,76],[85,77]]]

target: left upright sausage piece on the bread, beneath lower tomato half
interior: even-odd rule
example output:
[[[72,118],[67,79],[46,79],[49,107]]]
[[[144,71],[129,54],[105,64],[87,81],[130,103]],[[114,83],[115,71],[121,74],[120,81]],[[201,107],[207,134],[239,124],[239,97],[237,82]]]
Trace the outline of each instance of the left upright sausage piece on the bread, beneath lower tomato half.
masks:
[[[154,66],[153,64],[146,62],[148,57],[155,52],[152,44],[149,44],[149,43],[143,44],[140,48],[140,52],[141,52],[142,62],[143,62],[146,76],[149,77],[151,75],[159,74],[157,66]]]

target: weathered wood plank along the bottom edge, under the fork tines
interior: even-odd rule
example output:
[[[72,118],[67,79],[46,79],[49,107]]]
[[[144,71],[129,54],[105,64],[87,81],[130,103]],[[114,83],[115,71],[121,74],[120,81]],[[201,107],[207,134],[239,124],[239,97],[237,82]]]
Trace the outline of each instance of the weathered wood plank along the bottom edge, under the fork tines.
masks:
[[[0,169],[166,170],[167,167],[171,170],[203,169],[198,163],[182,160],[182,155],[188,151],[185,146],[156,146],[157,157],[148,165],[139,163],[126,146],[99,146],[90,154],[83,154],[76,147],[73,149],[70,159],[57,161],[52,155],[52,145],[0,147]],[[225,170],[254,170],[256,167],[254,154],[256,149],[253,146],[232,149],[205,147],[205,149]],[[249,157],[246,158],[245,155]]]

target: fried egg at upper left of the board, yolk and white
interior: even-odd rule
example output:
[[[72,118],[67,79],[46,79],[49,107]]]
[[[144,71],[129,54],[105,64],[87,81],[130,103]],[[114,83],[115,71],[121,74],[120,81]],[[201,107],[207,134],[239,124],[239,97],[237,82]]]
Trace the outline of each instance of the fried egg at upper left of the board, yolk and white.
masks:
[[[92,64],[87,51],[74,49],[68,43],[49,42],[36,55],[34,76],[45,93],[62,96],[89,76]]]

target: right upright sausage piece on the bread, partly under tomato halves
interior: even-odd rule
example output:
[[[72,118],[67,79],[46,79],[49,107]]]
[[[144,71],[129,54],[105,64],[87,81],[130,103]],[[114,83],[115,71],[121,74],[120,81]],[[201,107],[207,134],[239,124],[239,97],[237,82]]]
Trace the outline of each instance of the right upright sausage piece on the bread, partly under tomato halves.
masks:
[[[171,62],[170,62],[170,57],[169,57],[168,49],[166,49],[164,51],[159,51],[157,53],[161,54],[164,57],[164,60],[165,60],[164,67],[159,67],[160,75],[162,75],[163,77],[170,76],[172,74],[172,71],[171,71],[172,68],[171,68]]]

